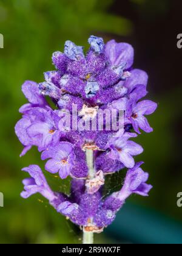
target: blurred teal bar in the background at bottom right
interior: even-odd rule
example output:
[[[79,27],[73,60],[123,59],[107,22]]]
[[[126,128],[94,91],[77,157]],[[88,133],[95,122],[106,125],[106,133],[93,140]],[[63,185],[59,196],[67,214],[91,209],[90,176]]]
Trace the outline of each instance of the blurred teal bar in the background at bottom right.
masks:
[[[106,234],[117,241],[140,244],[181,244],[182,223],[155,210],[127,203]]]

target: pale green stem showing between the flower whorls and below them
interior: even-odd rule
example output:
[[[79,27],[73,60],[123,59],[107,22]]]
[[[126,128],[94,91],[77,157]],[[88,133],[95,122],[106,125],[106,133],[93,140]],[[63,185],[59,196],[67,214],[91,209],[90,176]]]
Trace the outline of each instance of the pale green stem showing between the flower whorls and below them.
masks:
[[[89,168],[88,179],[93,179],[95,177],[95,168],[93,163],[93,150],[86,149],[86,159]],[[93,232],[83,232],[83,244],[93,244]]]

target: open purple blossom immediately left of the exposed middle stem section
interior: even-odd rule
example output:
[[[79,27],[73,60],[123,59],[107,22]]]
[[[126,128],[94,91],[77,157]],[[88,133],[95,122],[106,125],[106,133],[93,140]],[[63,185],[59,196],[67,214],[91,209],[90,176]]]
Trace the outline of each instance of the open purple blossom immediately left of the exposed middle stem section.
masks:
[[[68,142],[60,142],[42,152],[41,159],[47,158],[50,159],[47,161],[45,169],[51,173],[59,172],[61,179],[65,179],[69,176],[75,160],[73,145]]]

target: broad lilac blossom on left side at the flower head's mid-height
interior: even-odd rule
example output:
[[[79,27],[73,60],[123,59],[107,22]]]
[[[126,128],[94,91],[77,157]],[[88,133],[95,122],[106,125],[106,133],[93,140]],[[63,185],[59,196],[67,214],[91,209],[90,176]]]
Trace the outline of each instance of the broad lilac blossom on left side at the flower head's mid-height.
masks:
[[[15,132],[25,146],[24,155],[32,146],[38,146],[39,151],[59,141],[59,116],[50,108],[30,108],[16,124]]]

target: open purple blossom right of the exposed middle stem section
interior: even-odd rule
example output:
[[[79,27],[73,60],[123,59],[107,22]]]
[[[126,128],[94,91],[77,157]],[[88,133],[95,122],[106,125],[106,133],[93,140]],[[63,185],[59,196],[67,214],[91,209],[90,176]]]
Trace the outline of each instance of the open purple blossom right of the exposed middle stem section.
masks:
[[[127,168],[133,168],[135,161],[133,155],[139,155],[143,152],[143,148],[129,138],[134,138],[135,133],[124,133],[123,137],[111,140],[109,157],[113,160],[120,160]]]

